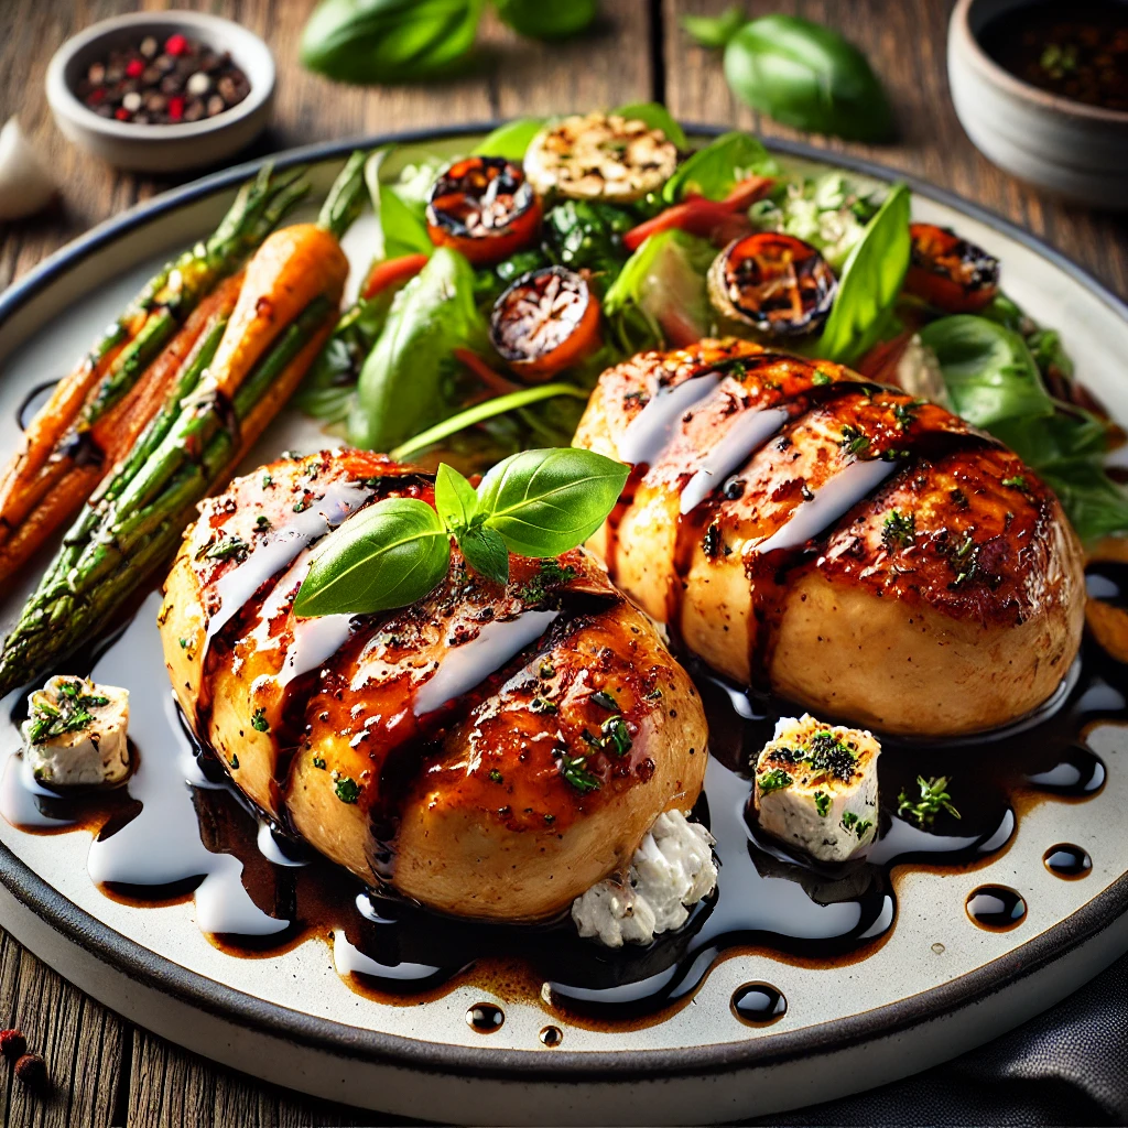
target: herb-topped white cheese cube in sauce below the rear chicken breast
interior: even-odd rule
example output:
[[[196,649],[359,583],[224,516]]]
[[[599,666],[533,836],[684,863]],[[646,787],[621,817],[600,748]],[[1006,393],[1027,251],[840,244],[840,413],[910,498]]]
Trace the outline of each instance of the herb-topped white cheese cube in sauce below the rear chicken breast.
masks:
[[[881,746],[861,729],[783,717],[756,760],[760,829],[825,862],[845,862],[878,831]]]

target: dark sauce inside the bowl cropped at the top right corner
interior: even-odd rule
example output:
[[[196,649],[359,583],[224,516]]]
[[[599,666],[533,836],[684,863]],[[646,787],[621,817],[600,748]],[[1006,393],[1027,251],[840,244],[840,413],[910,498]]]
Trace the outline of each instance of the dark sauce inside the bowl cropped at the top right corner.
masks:
[[[1049,94],[1128,111],[1128,3],[1032,3],[992,19],[984,51],[1015,78]]]

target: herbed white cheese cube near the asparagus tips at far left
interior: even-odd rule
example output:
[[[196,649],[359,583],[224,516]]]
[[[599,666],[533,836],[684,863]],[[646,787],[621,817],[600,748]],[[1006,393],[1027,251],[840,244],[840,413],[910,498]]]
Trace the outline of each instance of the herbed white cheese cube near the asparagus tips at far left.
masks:
[[[86,678],[54,677],[32,694],[24,755],[39,783],[114,784],[130,769],[130,695]]]

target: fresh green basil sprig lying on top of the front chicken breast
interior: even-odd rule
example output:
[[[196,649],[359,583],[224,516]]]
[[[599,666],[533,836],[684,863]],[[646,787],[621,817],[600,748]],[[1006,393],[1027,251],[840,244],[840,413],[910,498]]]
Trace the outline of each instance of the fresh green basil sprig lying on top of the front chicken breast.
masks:
[[[470,567],[505,583],[511,552],[548,557],[582,545],[603,523],[626,479],[622,462],[571,448],[513,455],[477,490],[444,462],[433,509],[389,497],[321,541],[294,614],[367,615],[414,603],[447,575],[451,538]]]

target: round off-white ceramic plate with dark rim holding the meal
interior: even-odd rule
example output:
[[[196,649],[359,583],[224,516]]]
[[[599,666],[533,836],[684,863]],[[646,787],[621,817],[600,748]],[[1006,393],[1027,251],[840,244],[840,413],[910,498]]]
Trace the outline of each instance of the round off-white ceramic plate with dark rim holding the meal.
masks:
[[[485,127],[404,140],[465,151],[468,135]],[[279,162],[309,162],[316,199],[350,148],[315,148]],[[779,147],[779,155],[797,165],[819,159],[800,147]],[[892,178],[841,164],[862,178]],[[104,224],[0,297],[0,451],[16,440],[15,408],[27,390],[67,371],[170,250],[210,231],[254,168],[201,180]],[[1063,332],[1084,382],[1128,423],[1128,309],[1025,232],[913,186],[917,218],[955,226],[996,254],[1007,292]],[[363,220],[350,232],[346,249],[358,270],[371,236]],[[316,428],[288,413],[250,461],[319,444]],[[11,594],[6,619],[24,594]],[[150,611],[143,608],[131,629],[142,660],[160,661]],[[143,707],[146,723],[166,732],[160,755],[177,770],[170,699]],[[6,752],[17,737],[7,717],[0,725]],[[103,896],[87,873],[85,832],[44,837],[0,821],[0,924],[126,1017],[316,1095],[457,1122],[729,1120],[855,1092],[952,1057],[1050,1006],[1128,950],[1128,739],[1107,726],[1091,742],[1109,768],[1103,791],[1024,812],[1010,846],[973,872],[896,872],[897,924],[865,959],[827,969],[768,951],[733,954],[713,968],[690,1005],[628,1029],[587,1029],[539,999],[497,998],[475,987],[415,1005],[377,1003],[345,985],[318,940],[276,958],[237,959],[200,932],[191,900],[134,908]],[[155,755],[151,742],[143,747]],[[1060,841],[1092,855],[1083,880],[1061,881],[1042,865],[1047,847]],[[1024,895],[1029,913],[1017,928],[986,932],[968,919],[968,893],[987,882]],[[730,997],[749,980],[784,992],[783,1019],[752,1029],[733,1016]],[[465,1021],[479,1002],[505,1010],[504,1025],[488,1038]],[[552,1049],[538,1039],[549,1023],[564,1032]]]

